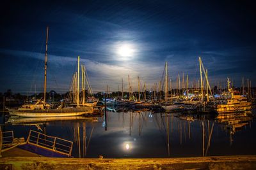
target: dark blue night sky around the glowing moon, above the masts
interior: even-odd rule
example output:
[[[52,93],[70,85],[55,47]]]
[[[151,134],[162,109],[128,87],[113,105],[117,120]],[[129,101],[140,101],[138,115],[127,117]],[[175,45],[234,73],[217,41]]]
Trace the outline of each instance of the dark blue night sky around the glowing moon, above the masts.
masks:
[[[127,90],[161,79],[164,62],[175,88],[178,73],[199,78],[198,56],[211,86],[242,77],[256,82],[256,5],[250,1],[1,1],[0,92],[42,92],[49,25],[47,91],[67,92],[77,56],[94,92]],[[120,49],[128,48],[124,56]],[[133,87],[137,90],[137,87]]]

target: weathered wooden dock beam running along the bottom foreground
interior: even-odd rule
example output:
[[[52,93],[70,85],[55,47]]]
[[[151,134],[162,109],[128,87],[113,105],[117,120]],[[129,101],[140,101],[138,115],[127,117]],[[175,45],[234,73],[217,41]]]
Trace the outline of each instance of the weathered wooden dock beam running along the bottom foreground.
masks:
[[[256,155],[166,159],[4,157],[0,169],[256,169]]]

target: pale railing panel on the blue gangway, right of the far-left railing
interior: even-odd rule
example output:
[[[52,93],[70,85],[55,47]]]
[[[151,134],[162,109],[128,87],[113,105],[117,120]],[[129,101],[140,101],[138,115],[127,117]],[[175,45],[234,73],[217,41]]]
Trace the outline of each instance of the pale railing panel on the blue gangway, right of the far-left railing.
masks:
[[[52,152],[58,152],[64,155],[71,156],[73,142],[65,139],[57,138],[54,136],[47,136],[40,132],[29,131],[27,143],[35,145]]]

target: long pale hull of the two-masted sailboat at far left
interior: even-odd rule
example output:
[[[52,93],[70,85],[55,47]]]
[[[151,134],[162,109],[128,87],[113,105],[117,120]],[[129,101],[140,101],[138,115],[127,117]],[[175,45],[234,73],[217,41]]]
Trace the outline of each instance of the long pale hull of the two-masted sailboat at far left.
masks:
[[[54,110],[12,110],[8,109],[10,115],[18,117],[76,117],[93,113],[93,107],[62,108]]]

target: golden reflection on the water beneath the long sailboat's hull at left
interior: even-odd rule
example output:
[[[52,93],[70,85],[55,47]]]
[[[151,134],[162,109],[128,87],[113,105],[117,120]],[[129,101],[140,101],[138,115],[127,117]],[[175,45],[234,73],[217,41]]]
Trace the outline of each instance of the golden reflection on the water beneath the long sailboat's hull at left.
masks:
[[[6,124],[32,124],[32,123],[42,123],[42,122],[50,122],[50,121],[62,121],[62,120],[84,120],[86,122],[97,122],[97,117],[44,117],[44,118],[13,118],[10,117]]]

